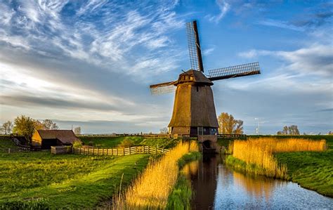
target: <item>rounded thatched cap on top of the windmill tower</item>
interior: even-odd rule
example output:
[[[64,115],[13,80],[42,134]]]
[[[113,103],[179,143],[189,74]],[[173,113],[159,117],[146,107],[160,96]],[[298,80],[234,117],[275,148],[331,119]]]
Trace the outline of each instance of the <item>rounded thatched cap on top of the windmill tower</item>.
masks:
[[[187,72],[183,72],[179,74],[178,80],[175,85],[182,83],[200,83],[208,86],[213,85],[213,82],[208,79],[202,72],[197,70],[188,70]]]

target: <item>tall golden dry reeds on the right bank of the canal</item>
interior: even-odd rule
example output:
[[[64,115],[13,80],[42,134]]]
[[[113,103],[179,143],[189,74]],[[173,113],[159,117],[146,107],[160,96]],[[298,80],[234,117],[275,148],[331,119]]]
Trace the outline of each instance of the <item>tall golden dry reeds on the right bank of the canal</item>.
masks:
[[[325,140],[307,140],[299,138],[255,138],[235,140],[233,157],[247,164],[255,164],[264,170],[264,175],[276,178],[287,178],[287,167],[278,164],[273,153],[322,151],[326,148]]]

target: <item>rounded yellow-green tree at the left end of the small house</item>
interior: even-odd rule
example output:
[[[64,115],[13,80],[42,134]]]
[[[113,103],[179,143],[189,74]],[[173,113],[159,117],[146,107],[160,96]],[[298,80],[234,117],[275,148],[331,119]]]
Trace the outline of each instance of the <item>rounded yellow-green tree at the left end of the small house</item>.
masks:
[[[30,140],[32,134],[34,134],[34,129],[37,123],[34,119],[21,115],[20,117],[15,118],[14,124],[13,133],[23,135],[27,140]]]

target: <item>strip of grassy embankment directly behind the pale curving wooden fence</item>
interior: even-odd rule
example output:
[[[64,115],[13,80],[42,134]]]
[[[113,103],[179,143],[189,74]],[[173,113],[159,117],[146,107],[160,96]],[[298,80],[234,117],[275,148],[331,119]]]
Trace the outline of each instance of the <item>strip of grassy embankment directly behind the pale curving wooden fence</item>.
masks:
[[[176,146],[178,140],[169,138],[144,138],[141,136],[118,136],[118,137],[97,137],[81,136],[79,137],[85,145],[92,144],[94,147],[118,147],[124,143],[124,140],[131,146],[145,145],[169,149]]]

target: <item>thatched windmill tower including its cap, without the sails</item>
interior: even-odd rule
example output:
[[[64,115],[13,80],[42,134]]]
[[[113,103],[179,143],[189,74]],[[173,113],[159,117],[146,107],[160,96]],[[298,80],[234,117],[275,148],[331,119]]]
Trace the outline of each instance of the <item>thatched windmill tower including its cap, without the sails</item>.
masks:
[[[189,70],[180,74],[176,84],[174,112],[169,123],[171,134],[214,135],[218,122],[211,82],[202,72]]]

